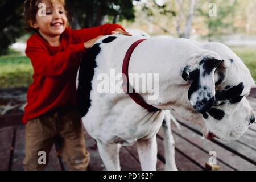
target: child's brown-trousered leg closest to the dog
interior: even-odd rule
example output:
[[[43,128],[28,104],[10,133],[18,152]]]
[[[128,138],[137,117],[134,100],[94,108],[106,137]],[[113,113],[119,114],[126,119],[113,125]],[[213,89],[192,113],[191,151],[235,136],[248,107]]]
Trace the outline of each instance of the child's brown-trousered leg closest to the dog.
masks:
[[[63,138],[61,151],[70,170],[86,170],[90,155],[86,151],[82,122],[78,111],[71,110],[59,115],[57,126]]]

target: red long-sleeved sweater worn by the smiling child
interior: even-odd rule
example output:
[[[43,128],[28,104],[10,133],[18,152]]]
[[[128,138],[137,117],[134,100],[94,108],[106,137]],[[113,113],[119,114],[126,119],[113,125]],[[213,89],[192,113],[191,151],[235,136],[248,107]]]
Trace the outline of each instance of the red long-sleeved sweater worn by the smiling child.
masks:
[[[61,34],[61,45],[57,47],[50,46],[38,34],[28,39],[26,55],[31,60],[34,74],[27,92],[23,123],[61,105],[77,105],[76,73],[82,55],[86,52],[84,42],[98,35],[111,34],[116,28],[122,27],[105,24],[81,30],[67,28]]]

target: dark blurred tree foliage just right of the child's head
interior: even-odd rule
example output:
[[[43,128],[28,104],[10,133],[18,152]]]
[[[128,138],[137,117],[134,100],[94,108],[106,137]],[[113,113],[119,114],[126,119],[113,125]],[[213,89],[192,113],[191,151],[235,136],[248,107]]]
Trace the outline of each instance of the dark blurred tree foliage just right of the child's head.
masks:
[[[67,0],[67,7],[75,29],[99,26],[106,18],[111,23],[135,18],[133,0]]]

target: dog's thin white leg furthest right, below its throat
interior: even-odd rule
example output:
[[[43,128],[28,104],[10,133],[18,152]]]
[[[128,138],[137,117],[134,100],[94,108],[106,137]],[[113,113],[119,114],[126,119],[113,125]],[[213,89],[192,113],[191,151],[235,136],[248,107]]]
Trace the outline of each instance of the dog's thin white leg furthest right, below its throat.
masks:
[[[170,112],[170,111],[169,111]],[[171,118],[170,113],[166,113],[164,116],[164,121],[162,123],[163,131],[164,131],[164,156],[166,158],[166,164],[164,169],[166,171],[177,171],[176,163],[175,163],[175,142],[174,137],[172,136],[171,130]]]

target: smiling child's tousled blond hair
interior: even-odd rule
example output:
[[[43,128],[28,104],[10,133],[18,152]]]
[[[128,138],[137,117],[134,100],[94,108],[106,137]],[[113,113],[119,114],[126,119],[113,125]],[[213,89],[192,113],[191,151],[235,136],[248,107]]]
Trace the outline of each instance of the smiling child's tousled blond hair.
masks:
[[[64,7],[65,7],[65,0],[49,0],[52,4],[56,1],[59,1]],[[34,28],[31,28],[31,23],[36,22],[36,14],[38,13],[38,5],[41,3],[42,0],[26,0],[24,2],[24,17],[26,19],[26,23],[29,27],[29,29],[34,30]]]

